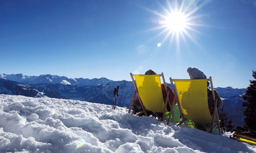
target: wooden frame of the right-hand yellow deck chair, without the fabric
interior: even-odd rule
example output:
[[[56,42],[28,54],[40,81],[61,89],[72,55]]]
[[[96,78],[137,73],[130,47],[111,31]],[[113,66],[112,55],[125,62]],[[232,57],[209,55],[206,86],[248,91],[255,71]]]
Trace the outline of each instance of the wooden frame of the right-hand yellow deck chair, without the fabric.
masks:
[[[187,119],[184,118],[184,115],[183,115],[183,112],[182,112],[182,109],[181,109],[181,105],[180,105],[180,101],[179,101],[179,98],[178,98],[178,94],[177,94],[177,91],[175,90],[175,87],[174,87],[173,79],[169,78],[169,80],[170,80],[170,84],[172,85],[172,88],[174,90],[175,98],[177,100],[177,103],[178,103],[178,106],[179,106],[179,110],[180,110],[180,114],[181,114],[181,117],[182,117],[182,121],[180,121],[177,124],[177,126],[179,126],[180,124],[185,122]],[[190,79],[182,79],[182,80],[190,80]],[[217,110],[217,99],[215,98],[215,93],[214,93],[214,85],[212,84],[211,77],[209,79],[206,79],[206,80],[210,82],[211,93],[212,93],[212,97],[214,99],[214,114],[213,114],[213,117],[212,117],[212,121],[211,121],[211,126],[210,126],[210,131],[209,132],[212,133],[216,129],[216,127],[218,126],[219,133],[221,133],[220,120],[219,120],[219,115],[218,115],[218,110]],[[216,119],[217,119],[217,124],[215,124],[215,120]]]

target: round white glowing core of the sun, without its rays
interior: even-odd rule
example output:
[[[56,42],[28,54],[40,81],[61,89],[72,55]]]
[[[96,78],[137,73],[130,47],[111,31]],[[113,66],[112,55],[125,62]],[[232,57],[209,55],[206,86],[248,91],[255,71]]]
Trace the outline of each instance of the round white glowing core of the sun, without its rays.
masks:
[[[186,16],[182,12],[171,12],[167,16],[164,17],[165,27],[173,32],[182,32],[186,27]]]

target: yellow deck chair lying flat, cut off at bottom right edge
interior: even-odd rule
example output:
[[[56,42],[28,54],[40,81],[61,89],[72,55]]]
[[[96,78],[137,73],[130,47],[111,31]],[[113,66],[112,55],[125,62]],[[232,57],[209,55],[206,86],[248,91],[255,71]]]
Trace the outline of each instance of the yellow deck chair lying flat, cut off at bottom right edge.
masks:
[[[248,143],[250,145],[256,145],[256,138],[250,137],[247,135],[243,135],[238,132],[232,132],[232,134],[229,136],[229,138],[237,140],[239,142]]]

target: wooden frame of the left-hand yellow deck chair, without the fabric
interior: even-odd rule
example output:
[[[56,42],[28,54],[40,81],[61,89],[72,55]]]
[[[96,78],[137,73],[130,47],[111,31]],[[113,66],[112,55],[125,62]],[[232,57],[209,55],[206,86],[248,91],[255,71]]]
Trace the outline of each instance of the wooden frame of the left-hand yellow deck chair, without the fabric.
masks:
[[[131,75],[131,78],[132,78],[132,81],[133,81],[133,85],[134,85],[134,87],[135,87],[135,92],[134,92],[133,99],[132,99],[132,101],[131,101],[131,105],[130,105],[130,109],[129,109],[129,112],[128,112],[128,113],[131,113],[131,110],[132,110],[132,107],[133,107],[133,104],[134,104],[134,100],[135,100],[136,94],[138,94],[138,97],[139,97],[138,100],[139,100],[139,103],[140,103],[140,105],[141,105],[143,111],[139,112],[137,115],[140,115],[140,114],[144,113],[144,114],[147,116],[147,114],[146,114],[146,108],[144,108],[144,106],[143,106],[143,104],[142,104],[143,101],[141,101],[140,95],[139,95],[139,93],[138,93],[138,88],[137,88],[137,85],[136,85],[135,80],[134,80],[134,75],[133,75],[132,73],[130,73],[130,75]],[[141,75],[142,75],[142,74],[141,74]],[[164,84],[164,88],[165,88],[165,92],[166,92],[166,99],[164,100],[165,106],[164,106],[164,110],[163,110],[163,115],[162,115],[162,117],[158,116],[157,114],[156,114],[156,115],[157,115],[157,117],[158,117],[161,121],[163,121],[164,119],[166,119],[166,118],[168,117],[167,125],[169,125],[170,117],[171,117],[172,112],[173,112],[173,109],[174,109],[175,99],[173,99],[173,103],[172,103],[173,105],[172,105],[172,104],[170,103],[169,91],[167,91],[167,87],[166,87],[166,83],[165,83],[165,80],[164,80],[164,75],[163,75],[163,73],[161,73],[161,74],[156,74],[156,75],[159,75],[160,77],[162,77],[163,84]],[[166,110],[167,110],[167,108],[166,108],[167,105],[169,105],[170,113],[168,113],[167,115],[165,115],[165,112],[166,112]],[[149,111],[151,111],[151,110],[149,110]]]

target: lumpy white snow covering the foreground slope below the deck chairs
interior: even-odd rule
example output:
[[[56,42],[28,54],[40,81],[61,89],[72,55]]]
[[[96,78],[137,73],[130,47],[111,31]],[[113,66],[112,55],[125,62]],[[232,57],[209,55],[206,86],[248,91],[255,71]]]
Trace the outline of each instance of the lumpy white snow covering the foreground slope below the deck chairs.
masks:
[[[256,146],[126,108],[0,95],[0,152],[256,152]]]

